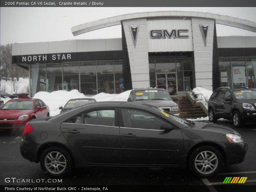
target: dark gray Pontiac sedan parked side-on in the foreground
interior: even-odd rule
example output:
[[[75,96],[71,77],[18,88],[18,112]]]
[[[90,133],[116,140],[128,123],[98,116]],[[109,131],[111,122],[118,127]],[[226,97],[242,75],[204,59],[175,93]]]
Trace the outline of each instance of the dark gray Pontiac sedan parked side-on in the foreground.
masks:
[[[21,155],[61,177],[72,166],[180,166],[211,177],[244,161],[233,129],[191,122],[149,104],[95,102],[25,126]]]

